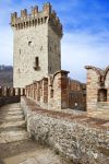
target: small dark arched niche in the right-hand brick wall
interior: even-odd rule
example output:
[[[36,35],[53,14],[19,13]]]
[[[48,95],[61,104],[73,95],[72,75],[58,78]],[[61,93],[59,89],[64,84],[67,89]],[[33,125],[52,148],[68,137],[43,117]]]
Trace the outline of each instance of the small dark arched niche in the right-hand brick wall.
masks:
[[[107,90],[100,89],[98,91],[98,102],[107,102]]]

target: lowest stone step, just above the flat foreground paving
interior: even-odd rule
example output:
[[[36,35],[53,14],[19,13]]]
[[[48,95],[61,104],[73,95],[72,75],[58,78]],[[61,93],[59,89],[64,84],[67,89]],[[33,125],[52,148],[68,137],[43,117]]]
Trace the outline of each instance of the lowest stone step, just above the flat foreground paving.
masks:
[[[11,130],[0,132],[0,143],[10,143],[15,141],[22,141],[29,139],[29,134],[26,130]]]

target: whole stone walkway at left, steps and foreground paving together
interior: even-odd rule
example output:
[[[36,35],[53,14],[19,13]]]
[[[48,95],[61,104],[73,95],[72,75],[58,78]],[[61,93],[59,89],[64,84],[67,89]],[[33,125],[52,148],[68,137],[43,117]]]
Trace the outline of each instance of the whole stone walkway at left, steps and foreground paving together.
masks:
[[[0,108],[0,164],[69,164],[29,139],[19,103]]]

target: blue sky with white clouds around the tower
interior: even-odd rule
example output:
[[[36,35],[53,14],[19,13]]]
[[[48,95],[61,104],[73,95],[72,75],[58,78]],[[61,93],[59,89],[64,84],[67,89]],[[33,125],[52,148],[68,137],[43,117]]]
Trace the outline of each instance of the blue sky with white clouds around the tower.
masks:
[[[45,0],[0,0],[0,65],[13,65],[11,13],[22,9],[41,10]],[[109,0],[49,0],[63,25],[62,70],[86,81],[85,66],[109,66]]]

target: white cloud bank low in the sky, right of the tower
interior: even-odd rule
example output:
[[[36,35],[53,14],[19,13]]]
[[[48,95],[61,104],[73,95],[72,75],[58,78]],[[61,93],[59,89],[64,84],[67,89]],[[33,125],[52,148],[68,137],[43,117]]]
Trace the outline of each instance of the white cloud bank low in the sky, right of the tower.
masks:
[[[101,36],[102,34],[94,36],[82,32],[64,34],[62,69],[69,70],[73,79],[86,80],[84,66],[92,65],[105,68],[109,65],[109,44],[102,43],[104,37]]]

